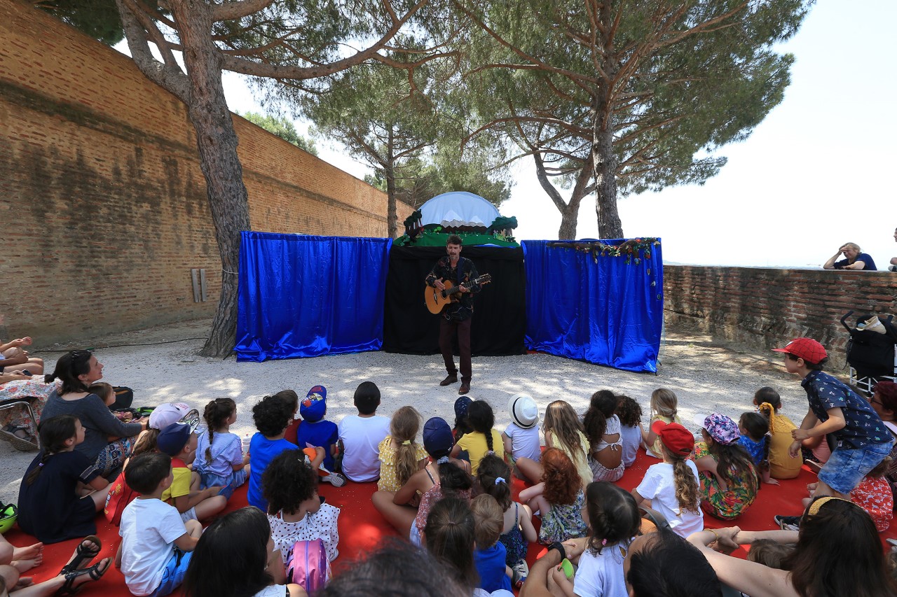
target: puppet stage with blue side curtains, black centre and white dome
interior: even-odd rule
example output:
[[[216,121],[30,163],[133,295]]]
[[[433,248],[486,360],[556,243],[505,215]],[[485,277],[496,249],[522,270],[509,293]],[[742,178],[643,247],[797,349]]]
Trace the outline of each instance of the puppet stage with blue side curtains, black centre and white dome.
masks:
[[[471,194],[444,195],[488,203]],[[444,195],[425,203],[410,225],[405,222],[414,236],[395,242],[243,232],[237,359],[364,350],[439,353],[440,317],[424,304],[423,279],[445,255],[445,233],[458,231],[465,243],[462,255],[473,260],[478,273],[492,276],[474,299],[474,356],[536,350],[657,372],[663,327],[659,239],[518,245],[508,239],[509,229],[492,226],[511,219],[499,216],[488,228],[482,225],[483,215],[492,215],[482,204],[445,202],[452,209],[428,213]]]

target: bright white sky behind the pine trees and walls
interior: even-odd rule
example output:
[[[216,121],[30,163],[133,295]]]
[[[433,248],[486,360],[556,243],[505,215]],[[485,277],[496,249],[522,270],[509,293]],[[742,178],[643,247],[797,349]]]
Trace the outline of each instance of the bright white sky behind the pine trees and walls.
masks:
[[[667,263],[760,267],[819,267],[854,242],[884,269],[897,256],[894,22],[893,0],[819,0],[779,47],[796,58],[785,99],[747,140],[718,152],[728,163],[703,186],[619,199],[624,235],[662,238]],[[241,75],[225,74],[224,88],[231,110],[264,112]],[[370,172],[336,141],[316,143],[336,167]],[[557,238],[561,215],[530,163],[517,162],[499,210],[517,217],[518,240]],[[593,198],[577,237],[597,238]]]

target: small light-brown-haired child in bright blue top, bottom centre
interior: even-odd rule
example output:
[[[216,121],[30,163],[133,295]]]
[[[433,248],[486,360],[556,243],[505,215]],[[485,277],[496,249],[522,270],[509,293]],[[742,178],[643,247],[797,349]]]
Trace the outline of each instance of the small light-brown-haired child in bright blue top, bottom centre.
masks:
[[[474,565],[480,576],[478,586],[488,593],[510,591],[511,569],[505,564],[507,551],[499,541],[503,515],[501,506],[488,494],[474,497],[470,502],[474,514]]]

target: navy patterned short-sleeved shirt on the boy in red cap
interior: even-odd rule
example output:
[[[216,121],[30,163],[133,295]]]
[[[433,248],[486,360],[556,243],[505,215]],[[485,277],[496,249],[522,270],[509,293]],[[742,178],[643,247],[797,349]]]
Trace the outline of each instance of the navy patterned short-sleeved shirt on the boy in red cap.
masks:
[[[829,409],[840,409],[847,424],[834,432],[838,447],[857,449],[870,444],[892,442],[893,436],[884,426],[872,405],[858,396],[849,385],[822,371],[810,371],[800,382],[816,419],[829,420]]]

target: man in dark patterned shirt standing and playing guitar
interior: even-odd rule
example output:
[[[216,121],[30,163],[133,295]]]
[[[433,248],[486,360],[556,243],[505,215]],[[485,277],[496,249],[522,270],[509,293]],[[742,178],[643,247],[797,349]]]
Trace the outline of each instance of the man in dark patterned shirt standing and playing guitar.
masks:
[[[454,286],[460,286],[462,282],[469,282],[477,278],[474,262],[461,256],[461,238],[453,234],[446,242],[446,255],[436,262],[426,283],[433,288],[445,290],[443,281],[450,281]],[[448,376],[440,382],[440,385],[457,383],[457,368],[455,368],[455,356],[452,352],[452,340],[457,333],[457,348],[461,360],[461,387],[458,394],[470,392],[470,323],[474,315],[474,305],[471,296],[480,291],[479,284],[471,284],[470,288],[462,286],[458,290],[457,302],[448,303],[442,309],[440,321],[440,350],[442,359],[446,364]]]

